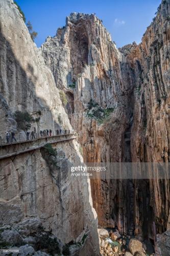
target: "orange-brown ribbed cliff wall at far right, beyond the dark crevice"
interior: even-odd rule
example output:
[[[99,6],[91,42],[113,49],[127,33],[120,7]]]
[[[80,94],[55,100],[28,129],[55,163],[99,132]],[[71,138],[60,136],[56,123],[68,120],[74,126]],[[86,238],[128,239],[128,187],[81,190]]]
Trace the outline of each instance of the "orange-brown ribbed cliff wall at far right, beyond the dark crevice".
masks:
[[[162,1],[141,44],[131,47],[130,52],[126,47],[122,49],[131,67],[137,62],[131,133],[133,162],[169,162],[169,12],[170,2]],[[156,222],[158,232],[169,228],[169,180],[136,182],[135,190],[136,233],[143,226],[144,232],[150,234],[151,228],[144,227],[145,216],[151,218],[148,225]],[[143,192],[138,201],[140,191]]]

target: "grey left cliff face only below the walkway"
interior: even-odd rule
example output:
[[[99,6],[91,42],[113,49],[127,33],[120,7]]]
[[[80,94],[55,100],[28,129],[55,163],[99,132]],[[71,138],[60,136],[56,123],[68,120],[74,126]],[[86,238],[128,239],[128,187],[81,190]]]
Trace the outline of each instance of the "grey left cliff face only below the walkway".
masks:
[[[90,184],[85,179],[70,177],[71,166],[81,163],[77,145],[67,142],[57,146],[57,164],[53,166],[43,149],[20,155],[13,161],[1,160],[0,225],[15,225],[38,217],[43,228],[52,230],[63,243],[90,231],[86,249],[97,254],[97,221],[90,199]]]

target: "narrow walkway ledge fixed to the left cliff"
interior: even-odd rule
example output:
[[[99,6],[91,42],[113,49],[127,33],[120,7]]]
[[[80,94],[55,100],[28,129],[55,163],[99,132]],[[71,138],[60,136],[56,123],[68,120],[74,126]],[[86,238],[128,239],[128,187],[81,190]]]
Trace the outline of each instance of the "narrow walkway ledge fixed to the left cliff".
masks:
[[[45,144],[57,144],[63,141],[69,141],[76,139],[76,134],[65,134],[50,137],[37,138],[35,140],[26,140],[20,142],[14,142],[11,144],[0,145],[0,159],[17,156],[30,151],[38,150]]]

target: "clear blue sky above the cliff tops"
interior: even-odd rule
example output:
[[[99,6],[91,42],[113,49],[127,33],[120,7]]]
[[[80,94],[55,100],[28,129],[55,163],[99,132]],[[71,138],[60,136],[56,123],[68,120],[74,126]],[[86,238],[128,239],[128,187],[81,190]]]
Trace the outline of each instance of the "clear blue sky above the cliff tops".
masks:
[[[71,12],[95,13],[116,42],[117,47],[140,42],[151,24],[161,0],[16,0],[26,19],[38,32],[38,47],[48,35],[54,36],[65,25]]]

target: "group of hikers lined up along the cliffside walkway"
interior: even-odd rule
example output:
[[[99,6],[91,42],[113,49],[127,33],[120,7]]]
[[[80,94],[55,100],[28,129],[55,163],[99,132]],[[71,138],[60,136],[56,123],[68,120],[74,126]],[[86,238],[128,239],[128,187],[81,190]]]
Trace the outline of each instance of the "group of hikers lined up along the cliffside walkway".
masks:
[[[70,130],[57,130],[56,131],[57,135],[64,135],[64,134],[70,134]],[[43,130],[43,131],[40,131],[40,137],[48,137],[48,136],[52,136],[52,130]],[[32,132],[29,132],[27,131],[26,132],[26,137],[27,137],[27,140],[35,140],[36,139],[36,136],[35,136],[35,131],[32,131]],[[7,139],[7,144],[9,143],[12,143],[13,141],[17,142],[16,141],[16,138],[15,138],[15,133],[13,130],[11,130],[11,132],[7,132],[6,133],[6,139]]]

